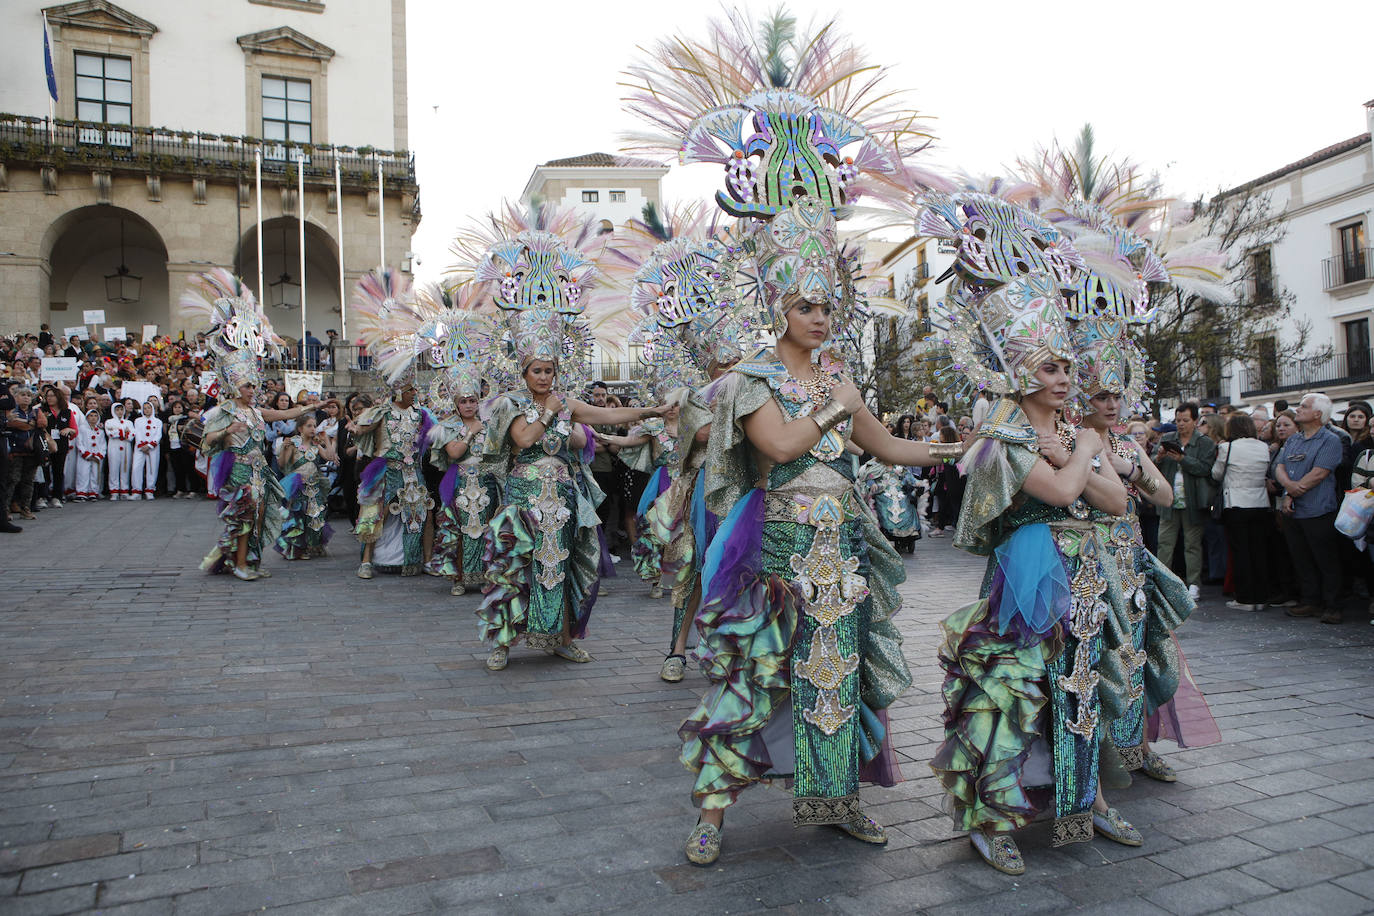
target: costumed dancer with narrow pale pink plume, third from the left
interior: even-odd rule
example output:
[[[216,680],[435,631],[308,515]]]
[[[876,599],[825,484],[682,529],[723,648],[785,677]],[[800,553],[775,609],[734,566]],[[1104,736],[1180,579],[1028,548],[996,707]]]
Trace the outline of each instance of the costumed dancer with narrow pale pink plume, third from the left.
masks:
[[[357,485],[353,533],[363,545],[357,577],[370,580],[378,571],[418,575],[434,508],[422,471],[434,415],[415,404],[416,358],[426,346],[416,328],[426,309],[392,269],[363,275],[353,308],[360,336],[390,389],[385,402],[349,424],[360,461],[370,459]]]

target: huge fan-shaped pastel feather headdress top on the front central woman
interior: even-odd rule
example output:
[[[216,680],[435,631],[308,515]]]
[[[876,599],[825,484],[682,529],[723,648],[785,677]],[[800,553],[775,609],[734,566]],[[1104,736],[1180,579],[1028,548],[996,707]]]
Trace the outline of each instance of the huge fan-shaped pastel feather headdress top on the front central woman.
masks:
[[[651,125],[625,144],[724,165],[716,202],[736,217],[769,218],[798,196],[834,210],[900,194],[930,135],[886,76],[834,22],[796,34],[779,14],[760,43],[731,12],[705,38],[660,41],[625,70],[627,106]]]

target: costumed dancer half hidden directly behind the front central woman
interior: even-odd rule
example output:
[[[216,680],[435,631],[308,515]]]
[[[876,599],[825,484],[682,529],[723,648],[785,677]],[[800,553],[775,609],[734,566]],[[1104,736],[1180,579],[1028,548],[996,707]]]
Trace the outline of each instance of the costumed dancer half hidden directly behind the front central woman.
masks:
[[[646,205],[643,220],[631,220],[607,249],[605,288],[629,302],[643,323],[632,342],[640,345],[647,375],[665,400],[677,407],[671,420],[675,446],[665,452],[669,467],[665,492],[646,489],[636,569],[665,585],[673,602],[673,625],[660,677],[677,683],[686,676],[690,619],[701,603],[701,563],[716,533],[717,519],[706,508],[698,486],[710,435],[710,382],[739,361],[741,341],[750,328],[735,313],[734,273],[739,250],[721,240],[716,207],[668,209],[660,214]],[[666,419],[666,417],[665,417]],[[647,438],[647,437],[646,437]],[[622,453],[624,457],[624,453]],[[660,478],[662,482],[662,478]]]

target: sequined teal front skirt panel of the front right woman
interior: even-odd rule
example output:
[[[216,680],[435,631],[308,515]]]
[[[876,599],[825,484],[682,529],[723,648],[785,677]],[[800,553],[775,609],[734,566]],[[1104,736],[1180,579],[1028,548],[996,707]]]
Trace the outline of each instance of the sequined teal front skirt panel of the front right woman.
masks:
[[[1048,666],[1050,715],[1054,722],[1054,834],[1052,845],[1092,839],[1092,802],[1098,792],[1098,652],[1103,600],[1103,548],[1095,531],[1066,529],[1057,533],[1059,549],[1069,558],[1072,610],[1065,645]]]

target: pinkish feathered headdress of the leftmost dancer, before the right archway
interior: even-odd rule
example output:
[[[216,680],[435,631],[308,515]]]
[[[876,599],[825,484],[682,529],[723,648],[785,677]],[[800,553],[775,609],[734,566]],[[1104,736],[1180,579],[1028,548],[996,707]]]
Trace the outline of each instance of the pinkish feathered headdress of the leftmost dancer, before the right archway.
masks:
[[[206,345],[229,397],[240,385],[261,387],[260,360],[275,352],[280,339],[243,280],[223,268],[198,273],[177,305],[187,319],[207,327]]]

